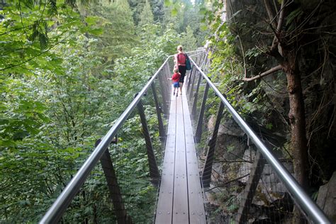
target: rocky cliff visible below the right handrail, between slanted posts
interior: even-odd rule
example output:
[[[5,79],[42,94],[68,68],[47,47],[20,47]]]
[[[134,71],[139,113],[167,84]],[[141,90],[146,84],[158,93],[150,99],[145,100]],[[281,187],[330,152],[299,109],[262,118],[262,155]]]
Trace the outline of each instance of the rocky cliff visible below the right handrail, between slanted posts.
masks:
[[[215,116],[211,116],[207,125],[210,133],[214,123]],[[274,153],[284,158],[281,152]],[[252,170],[256,169],[257,150],[235,121],[225,117],[218,130],[215,154],[212,184],[206,191],[209,223],[235,222],[245,198],[245,187],[252,178]],[[293,173],[290,161],[285,159],[283,164]],[[248,223],[286,223],[293,210],[291,197],[269,164],[264,164],[260,172],[256,193],[248,206]],[[218,210],[223,212],[213,215]]]

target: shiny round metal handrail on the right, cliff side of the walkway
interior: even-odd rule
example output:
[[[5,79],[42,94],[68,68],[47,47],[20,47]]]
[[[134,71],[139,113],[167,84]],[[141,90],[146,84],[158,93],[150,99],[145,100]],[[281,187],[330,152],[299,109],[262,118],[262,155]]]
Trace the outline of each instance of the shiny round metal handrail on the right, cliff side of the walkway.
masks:
[[[284,183],[286,188],[289,190],[289,194],[293,197],[294,201],[298,204],[298,206],[302,209],[308,218],[313,220],[314,223],[332,223],[332,221],[327,218],[325,213],[313,202],[313,200],[303,191],[302,187],[298,184],[296,179],[286,170],[283,164],[279,162],[274,155],[271,154],[271,151],[264,145],[264,143],[257,137],[252,128],[242,119],[242,117],[235,111],[233,106],[225,99],[225,96],[220,93],[220,91],[215,87],[215,85],[211,82],[211,80],[204,74],[204,72],[196,65],[194,60],[190,58],[191,63],[194,64],[194,67],[200,72],[206,82],[211,86],[211,89],[215,91],[215,94],[220,98],[220,100],[224,103],[228,111],[231,113],[235,121],[240,128],[244,130],[247,136],[252,139],[254,144],[260,150],[262,155],[267,159],[267,162],[271,165],[271,167],[275,170],[276,174],[278,174],[279,179]]]

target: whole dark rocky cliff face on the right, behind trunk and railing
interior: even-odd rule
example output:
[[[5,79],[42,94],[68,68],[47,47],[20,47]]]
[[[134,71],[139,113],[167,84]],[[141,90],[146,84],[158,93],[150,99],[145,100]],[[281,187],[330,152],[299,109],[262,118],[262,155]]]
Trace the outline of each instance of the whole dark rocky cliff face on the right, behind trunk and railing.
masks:
[[[226,1],[227,21],[230,23],[231,32],[237,36],[235,52],[242,61],[245,58],[247,77],[265,72],[279,63],[269,54],[274,41],[274,30],[271,28],[269,11],[264,2],[266,1]],[[276,19],[278,19],[280,4],[278,1],[269,1],[269,4],[271,13],[277,15]],[[284,35],[281,37],[283,40],[281,47],[284,50],[290,48],[295,52],[295,62],[301,77],[308,140],[308,189],[315,192],[336,170],[334,162],[336,159],[336,13],[333,10],[335,7],[336,1],[331,0],[291,1],[286,6],[282,27],[284,31],[281,33]],[[290,106],[286,74],[279,70],[246,86],[247,91],[261,87],[265,94],[265,104],[269,103],[272,107],[272,114],[268,119],[273,124],[273,128],[257,125],[259,123],[257,120],[263,118],[263,113],[258,111],[248,118],[250,125],[276,147],[288,150],[288,152],[283,150],[275,153],[278,153],[279,158],[284,159],[286,167],[293,172],[292,151],[289,147],[291,127],[288,116]],[[228,220],[232,219],[237,212],[237,201],[240,200],[242,189],[247,184],[247,175],[252,170],[255,157],[254,147],[248,145],[245,135],[239,130],[229,131],[226,128],[232,125],[230,122],[230,120],[223,121],[219,132],[216,149],[218,162],[213,172],[215,189],[212,195],[215,196],[209,196],[213,205],[224,211],[222,220],[225,222],[229,222]],[[211,129],[211,123],[208,125],[209,129]],[[255,217],[253,215],[250,217],[250,223],[262,222],[260,217],[269,220],[276,213],[274,208],[279,208],[279,205],[284,203],[286,206],[281,208],[284,208],[284,211],[291,211],[293,202],[277,181],[274,172],[269,171],[268,164],[265,164],[259,181],[257,196],[253,199],[251,207]],[[330,183],[333,182],[330,180]],[[220,191],[217,186],[225,187]],[[333,185],[330,184],[330,186]],[[324,186],[324,188],[330,189],[330,186]],[[323,193],[331,191],[325,189],[323,190],[322,187],[319,197],[325,198],[324,201],[328,201],[327,198],[332,200],[332,193]],[[333,201],[325,202],[329,205],[332,203]],[[325,211],[328,209],[330,210],[330,206],[325,207]],[[257,218],[258,215],[259,218]],[[286,223],[286,215],[282,215],[282,219],[279,219],[280,216],[276,222]],[[289,216],[287,215],[287,219]]]

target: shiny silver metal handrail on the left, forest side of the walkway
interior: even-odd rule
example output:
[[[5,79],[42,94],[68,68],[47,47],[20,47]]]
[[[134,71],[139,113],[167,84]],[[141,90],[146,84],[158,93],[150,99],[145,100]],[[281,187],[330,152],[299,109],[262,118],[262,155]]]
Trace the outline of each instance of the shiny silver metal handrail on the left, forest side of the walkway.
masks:
[[[198,55],[199,52],[204,51],[194,50],[187,53]],[[45,213],[43,218],[40,220],[40,223],[57,223],[57,221],[60,220],[63,213],[65,213],[65,210],[71,203],[72,199],[77,194],[81,186],[84,184],[84,181],[86,181],[92,169],[94,169],[96,164],[99,162],[99,159],[103,157],[104,153],[106,152],[106,149],[108,148],[108,145],[110,145],[113,138],[116,137],[116,133],[118,132],[118,130],[121,128],[123,123],[125,123],[128,116],[130,116],[130,113],[134,111],[135,107],[137,106],[139,107],[139,104],[141,104],[140,101],[142,99],[142,96],[144,96],[146,92],[150,89],[154,80],[159,76],[159,72],[165,70],[167,75],[167,72],[169,72],[170,69],[168,60],[173,56],[174,55],[169,55],[169,57],[167,57],[167,59],[164,61],[161,67],[157,69],[157,72],[155,72],[155,74],[150,78],[147,84],[145,84],[145,86],[138,93],[138,95],[135,96],[135,99],[133,99],[128,108],[126,108],[125,111],[121,114],[121,116],[118,118],[113,127],[110,130],[108,130],[108,133],[106,133],[106,135],[101,139],[99,145],[95,147],[94,151],[86,159],[82,167],[78,170],[77,174],[75,174],[74,177],[71,179],[71,181],[69,181],[69,184],[67,184],[67,186],[62,191],[60,196],[58,196],[58,198],[49,208],[47,213]],[[165,77],[159,77],[159,78],[162,79]]]

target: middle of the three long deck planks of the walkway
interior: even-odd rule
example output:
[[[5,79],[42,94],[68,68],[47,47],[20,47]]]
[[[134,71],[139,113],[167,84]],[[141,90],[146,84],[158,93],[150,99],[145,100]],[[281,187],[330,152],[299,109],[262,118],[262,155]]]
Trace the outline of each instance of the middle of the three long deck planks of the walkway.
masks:
[[[181,96],[177,96],[177,131],[175,144],[173,223],[189,223],[186,181],[186,147]]]

